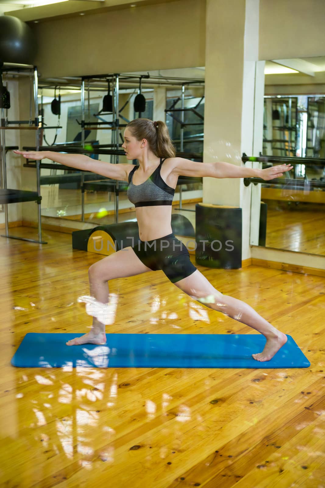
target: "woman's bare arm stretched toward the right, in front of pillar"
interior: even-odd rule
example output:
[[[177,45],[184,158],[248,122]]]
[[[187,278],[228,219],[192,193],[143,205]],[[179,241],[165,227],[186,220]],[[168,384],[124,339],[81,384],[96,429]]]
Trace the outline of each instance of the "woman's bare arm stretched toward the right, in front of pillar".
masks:
[[[194,163],[189,159],[173,158],[173,172],[178,176],[193,176],[196,178],[210,176],[211,178],[262,178],[262,180],[273,180],[279,178],[286,171],[293,168],[290,164],[280,164],[266,169],[247,168],[236,164],[215,162],[215,163]]]

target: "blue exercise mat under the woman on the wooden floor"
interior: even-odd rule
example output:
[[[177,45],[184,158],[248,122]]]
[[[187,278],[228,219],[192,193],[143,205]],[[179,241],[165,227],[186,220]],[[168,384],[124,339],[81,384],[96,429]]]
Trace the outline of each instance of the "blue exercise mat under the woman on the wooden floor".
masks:
[[[19,367],[297,368],[310,366],[291,336],[267,362],[262,334],[106,334],[102,346],[66,346],[83,334],[28,333],[11,360]]]

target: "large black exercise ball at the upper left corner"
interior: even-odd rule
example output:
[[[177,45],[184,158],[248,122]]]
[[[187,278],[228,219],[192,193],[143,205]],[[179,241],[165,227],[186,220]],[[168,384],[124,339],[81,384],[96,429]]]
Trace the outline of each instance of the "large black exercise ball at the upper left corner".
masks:
[[[34,64],[36,37],[32,29],[17,17],[0,16],[0,62]]]

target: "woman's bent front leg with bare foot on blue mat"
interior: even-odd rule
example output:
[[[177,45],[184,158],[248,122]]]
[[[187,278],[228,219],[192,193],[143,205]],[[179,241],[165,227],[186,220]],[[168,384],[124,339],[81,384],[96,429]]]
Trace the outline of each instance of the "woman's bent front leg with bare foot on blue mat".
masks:
[[[109,287],[108,280],[114,278],[126,278],[127,276],[134,276],[141,273],[146,273],[151,269],[143,264],[136,256],[132,247],[125,247],[106,258],[92,264],[88,270],[90,294],[95,298],[94,306],[100,306],[109,301]],[[99,322],[95,317],[93,318],[93,326],[88,332],[81,337],[71,339],[66,344],[67,346],[75,346],[78,344],[105,344],[105,324]]]

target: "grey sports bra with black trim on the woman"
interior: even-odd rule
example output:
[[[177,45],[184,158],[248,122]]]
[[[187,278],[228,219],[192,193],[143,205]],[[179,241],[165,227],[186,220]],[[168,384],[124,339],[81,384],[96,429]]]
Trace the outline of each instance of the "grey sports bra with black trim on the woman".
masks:
[[[165,158],[166,159],[166,158]],[[134,185],[132,182],[134,171],[139,166],[134,166],[129,174],[128,199],[135,207],[149,205],[172,205],[175,190],[168,186],[160,176],[160,169],[165,159],[160,158],[159,166],[153,171],[147,181]]]

